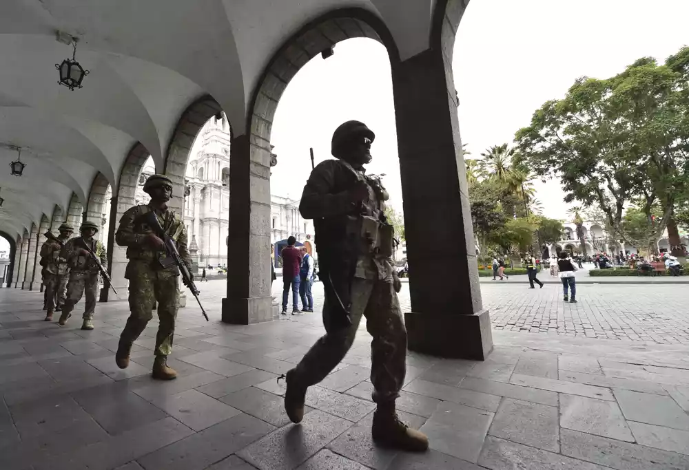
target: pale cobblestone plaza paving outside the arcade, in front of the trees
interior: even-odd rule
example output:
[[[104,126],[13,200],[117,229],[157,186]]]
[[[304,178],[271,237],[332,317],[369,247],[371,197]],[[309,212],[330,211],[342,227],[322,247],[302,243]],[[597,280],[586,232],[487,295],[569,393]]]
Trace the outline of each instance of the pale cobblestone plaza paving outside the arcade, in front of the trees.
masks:
[[[281,299],[278,284],[274,283],[273,291]],[[322,286],[313,287],[320,307]],[[526,282],[481,285],[493,329],[689,345],[688,286],[586,284],[578,286],[578,303],[563,301],[560,284],[527,287]],[[400,306],[403,312],[411,310],[409,284],[402,284]]]

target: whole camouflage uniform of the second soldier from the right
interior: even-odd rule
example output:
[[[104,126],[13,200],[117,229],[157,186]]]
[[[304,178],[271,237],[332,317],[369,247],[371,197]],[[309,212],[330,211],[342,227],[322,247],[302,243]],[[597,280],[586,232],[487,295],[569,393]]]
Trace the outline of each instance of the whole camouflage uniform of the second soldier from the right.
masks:
[[[150,178],[153,178],[150,177]],[[149,179],[150,179],[149,178]],[[143,222],[143,216],[155,211],[163,230],[176,241],[179,255],[191,269],[191,258],[187,249],[187,231],[183,222],[170,211],[158,211],[151,206],[134,206],[124,213],[115,233],[115,241],[127,247],[127,269],[125,278],[129,279],[129,304],[132,314],[127,319],[121,343],[136,341],[146,324],[153,318],[152,309],[158,303],[157,312],[160,325],[156,336],[156,356],[168,356],[172,352],[174,324],[179,306],[179,270],[177,266],[163,268],[161,259],[165,251],[154,251],[142,245],[145,235],[152,230]]]

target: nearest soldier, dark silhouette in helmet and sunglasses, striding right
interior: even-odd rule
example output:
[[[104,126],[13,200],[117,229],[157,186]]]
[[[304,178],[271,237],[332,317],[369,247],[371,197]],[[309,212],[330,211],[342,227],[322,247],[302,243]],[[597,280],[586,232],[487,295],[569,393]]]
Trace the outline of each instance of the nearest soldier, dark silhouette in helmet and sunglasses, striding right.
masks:
[[[320,382],[345,357],[361,316],[371,342],[374,442],[424,451],[428,438],[409,429],[395,413],[395,399],[407,372],[407,330],[397,298],[400,279],[391,261],[393,229],[384,217],[387,191],[380,178],[367,176],[373,132],[362,122],[336,129],[332,154],[318,164],[304,188],[299,210],[316,229],[319,277],[325,290],[326,334],[285,375],[285,411],[293,423],[304,416],[307,387]]]

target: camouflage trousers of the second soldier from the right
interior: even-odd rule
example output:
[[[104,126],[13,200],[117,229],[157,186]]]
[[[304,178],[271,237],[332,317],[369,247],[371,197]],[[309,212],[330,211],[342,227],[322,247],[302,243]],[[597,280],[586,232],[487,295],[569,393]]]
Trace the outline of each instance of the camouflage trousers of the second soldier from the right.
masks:
[[[132,263],[132,261],[130,261]],[[158,303],[158,334],[156,356],[168,356],[172,352],[174,323],[179,308],[177,275],[166,271],[135,270],[129,286],[130,317],[120,335],[120,342],[132,344],[141,335],[147,323],[153,319],[153,307]]]

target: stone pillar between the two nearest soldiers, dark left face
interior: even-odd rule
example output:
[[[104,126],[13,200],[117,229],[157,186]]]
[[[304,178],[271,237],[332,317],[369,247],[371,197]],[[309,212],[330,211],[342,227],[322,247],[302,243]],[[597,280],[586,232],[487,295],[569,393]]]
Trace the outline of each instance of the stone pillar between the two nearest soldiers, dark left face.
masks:
[[[229,165],[232,250],[228,253],[232,256],[227,257],[223,321],[242,325],[270,321],[270,150],[249,142],[249,136],[238,136],[232,139]]]

